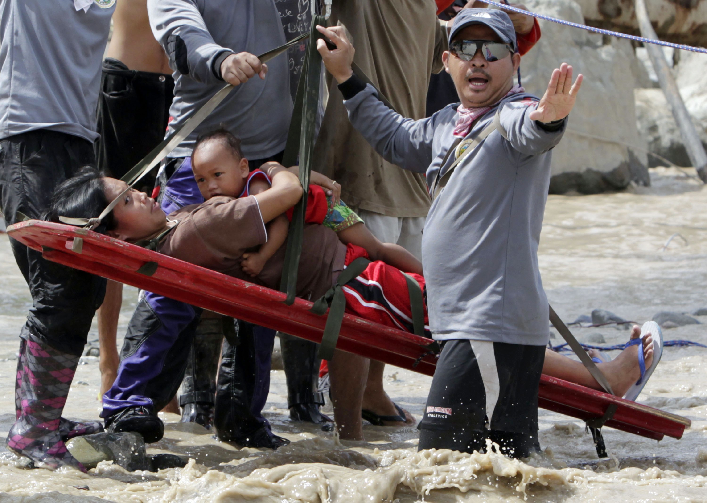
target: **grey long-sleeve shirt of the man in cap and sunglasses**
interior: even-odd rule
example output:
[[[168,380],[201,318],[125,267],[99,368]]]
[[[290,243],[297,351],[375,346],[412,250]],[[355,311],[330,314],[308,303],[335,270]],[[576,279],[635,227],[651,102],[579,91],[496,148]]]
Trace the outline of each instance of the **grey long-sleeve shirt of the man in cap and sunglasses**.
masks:
[[[432,203],[422,236],[428,312],[438,341],[472,339],[523,345],[549,340],[547,297],[537,247],[550,180],[549,149],[557,131],[528,115],[537,97],[518,94],[501,107],[498,131],[460,162]],[[388,162],[426,173],[428,185],[455,138],[457,105],[428,119],[405,119],[378,100],[368,85],[344,102],[351,124]],[[467,138],[490,124],[497,107]],[[443,167],[445,172],[454,155]]]

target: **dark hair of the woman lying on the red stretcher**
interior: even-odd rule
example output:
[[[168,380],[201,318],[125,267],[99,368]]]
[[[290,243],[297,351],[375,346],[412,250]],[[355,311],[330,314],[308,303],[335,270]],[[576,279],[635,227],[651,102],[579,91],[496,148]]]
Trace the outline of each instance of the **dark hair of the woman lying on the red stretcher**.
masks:
[[[103,173],[93,166],[84,166],[75,177],[62,182],[52,196],[52,206],[45,220],[59,222],[59,216],[69,218],[95,218],[107,208],[110,201],[105,198]],[[111,211],[95,232],[105,234],[117,227],[117,220]]]

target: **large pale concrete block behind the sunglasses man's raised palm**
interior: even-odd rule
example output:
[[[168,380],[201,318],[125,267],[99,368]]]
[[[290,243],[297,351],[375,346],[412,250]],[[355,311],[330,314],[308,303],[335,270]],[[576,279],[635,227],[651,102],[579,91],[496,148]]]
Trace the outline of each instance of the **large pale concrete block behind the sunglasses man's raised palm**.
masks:
[[[531,11],[583,23],[573,0],[530,0]],[[553,150],[550,192],[596,194],[650,184],[646,144],[636,128],[633,88],[645,78],[631,43],[586,30],[540,21],[542,38],[521,62],[526,90],[542,96],[553,69],[563,61],[585,81],[568,130]]]

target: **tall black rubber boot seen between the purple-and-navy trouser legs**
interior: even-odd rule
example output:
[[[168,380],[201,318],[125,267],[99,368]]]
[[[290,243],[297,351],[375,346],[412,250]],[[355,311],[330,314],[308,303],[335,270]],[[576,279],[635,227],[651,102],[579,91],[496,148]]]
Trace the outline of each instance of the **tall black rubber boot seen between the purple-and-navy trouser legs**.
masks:
[[[182,381],[182,395],[179,398],[181,422],[198,422],[207,429],[214,427],[216,373],[221,343],[223,319],[201,318]]]

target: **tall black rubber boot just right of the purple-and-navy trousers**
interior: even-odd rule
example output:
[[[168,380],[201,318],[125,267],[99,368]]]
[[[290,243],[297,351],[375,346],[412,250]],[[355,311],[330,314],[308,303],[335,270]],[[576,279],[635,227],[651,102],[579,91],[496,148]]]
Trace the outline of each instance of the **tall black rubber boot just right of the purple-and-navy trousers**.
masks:
[[[319,424],[330,418],[320,413],[324,395],[317,391],[319,365],[317,344],[278,332],[282,363],[287,378],[287,406],[290,419]]]

